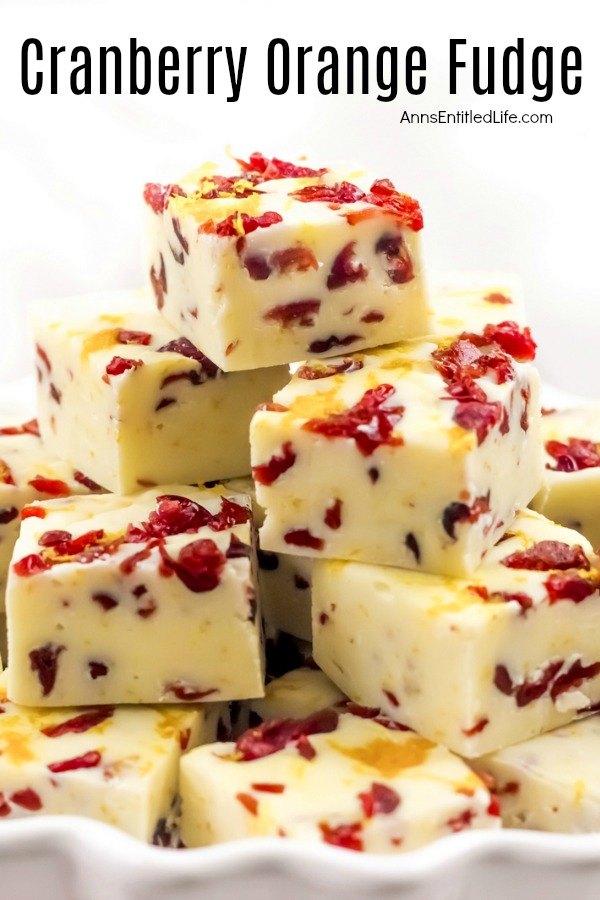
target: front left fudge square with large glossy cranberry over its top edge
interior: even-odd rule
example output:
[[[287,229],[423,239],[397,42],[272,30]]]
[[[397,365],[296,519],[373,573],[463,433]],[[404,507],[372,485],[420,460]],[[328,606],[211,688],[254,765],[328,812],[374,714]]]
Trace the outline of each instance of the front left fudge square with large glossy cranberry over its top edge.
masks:
[[[31,706],[262,696],[251,511],[169,485],[37,505],[7,587],[8,695]]]

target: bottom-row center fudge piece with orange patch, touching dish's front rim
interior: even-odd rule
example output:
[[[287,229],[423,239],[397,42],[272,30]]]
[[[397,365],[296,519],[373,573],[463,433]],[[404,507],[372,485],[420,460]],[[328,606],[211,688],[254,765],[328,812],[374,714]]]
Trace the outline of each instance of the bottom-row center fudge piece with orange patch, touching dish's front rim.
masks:
[[[398,853],[500,823],[497,801],[462,760],[352,705],[193,750],[181,795],[188,847],[278,835]]]

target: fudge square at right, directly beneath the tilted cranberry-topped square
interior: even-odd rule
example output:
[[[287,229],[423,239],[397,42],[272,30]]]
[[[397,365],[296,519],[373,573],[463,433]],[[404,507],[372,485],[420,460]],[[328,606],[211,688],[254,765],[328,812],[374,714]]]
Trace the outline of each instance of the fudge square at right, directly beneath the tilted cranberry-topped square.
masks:
[[[467,757],[598,703],[599,629],[590,544],[529,510],[470,578],[315,564],[317,664],[351,700]]]

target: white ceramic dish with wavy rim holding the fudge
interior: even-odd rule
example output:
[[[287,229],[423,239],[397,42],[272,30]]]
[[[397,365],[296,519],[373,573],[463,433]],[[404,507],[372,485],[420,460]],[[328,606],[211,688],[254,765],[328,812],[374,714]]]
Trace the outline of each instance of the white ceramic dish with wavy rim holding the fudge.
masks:
[[[31,382],[0,387],[27,418]],[[553,388],[547,406],[589,403]],[[599,762],[600,765],[600,762]],[[0,822],[0,900],[598,900],[600,834],[463,832],[406,855],[256,838],[165,850],[76,816]]]

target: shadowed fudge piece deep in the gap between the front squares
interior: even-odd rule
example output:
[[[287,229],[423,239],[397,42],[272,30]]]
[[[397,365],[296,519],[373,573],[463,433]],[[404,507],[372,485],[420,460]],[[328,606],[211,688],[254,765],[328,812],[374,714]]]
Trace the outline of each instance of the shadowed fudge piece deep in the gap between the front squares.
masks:
[[[257,525],[264,521],[264,510],[256,502],[252,478],[234,478],[224,482],[228,490],[252,498]],[[285,631],[302,641],[312,639],[310,626],[310,585],[314,560],[290,553],[270,553],[258,549],[260,605],[266,633],[275,637]]]

